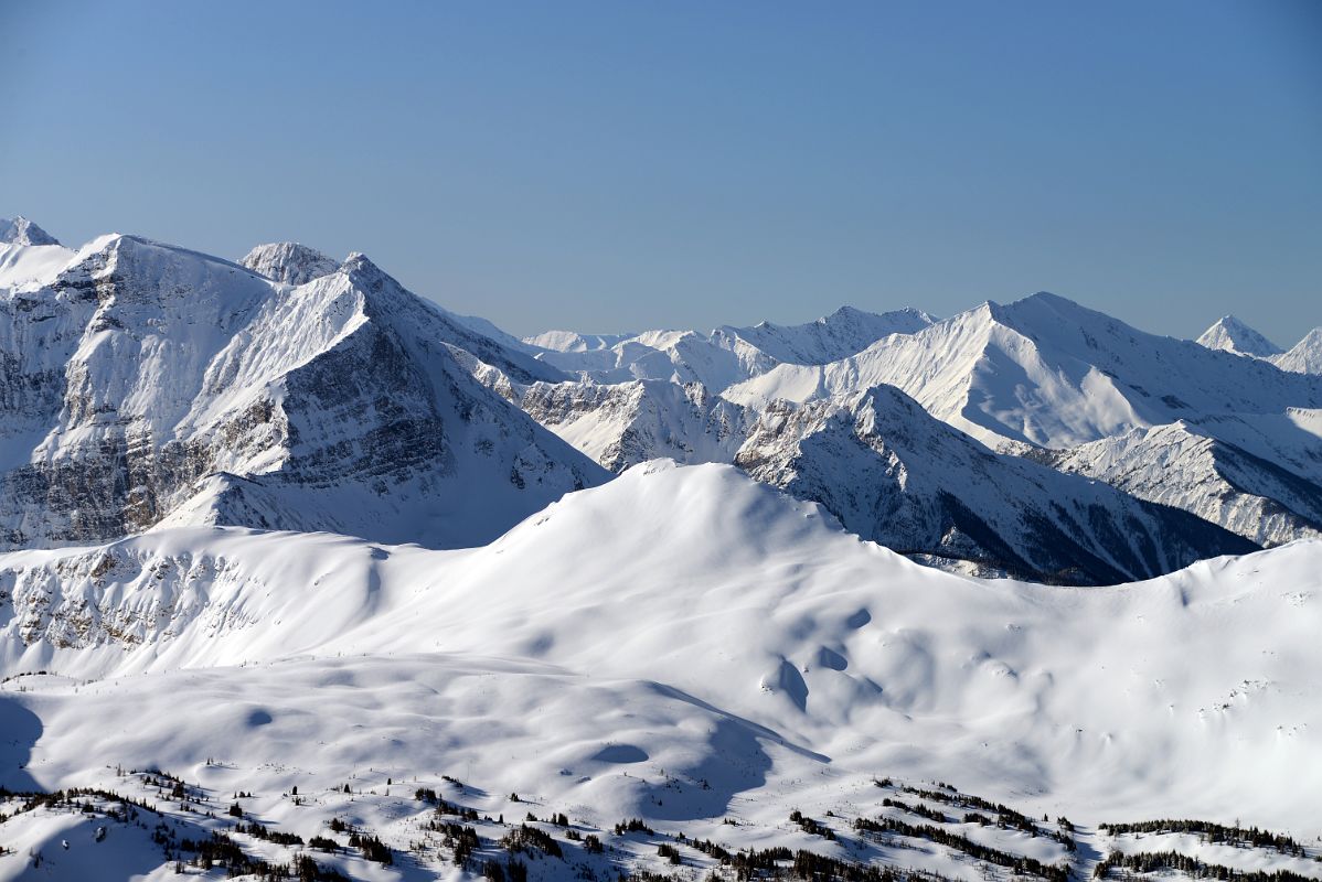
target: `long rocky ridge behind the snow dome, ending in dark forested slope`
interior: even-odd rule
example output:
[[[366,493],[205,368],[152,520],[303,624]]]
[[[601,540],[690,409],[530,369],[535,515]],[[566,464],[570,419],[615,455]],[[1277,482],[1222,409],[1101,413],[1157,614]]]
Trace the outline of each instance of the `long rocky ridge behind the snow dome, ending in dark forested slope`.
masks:
[[[698,383],[520,386],[489,366],[469,368],[612,471],[658,457],[732,462],[821,503],[865,539],[947,568],[1113,584],[1253,551],[1256,532],[1272,544],[1314,535],[1307,520],[1288,522],[1296,532],[1278,526],[1240,533],[1243,541],[1105,483],[993,453],[888,386],[850,403],[777,400],[755,412]]]

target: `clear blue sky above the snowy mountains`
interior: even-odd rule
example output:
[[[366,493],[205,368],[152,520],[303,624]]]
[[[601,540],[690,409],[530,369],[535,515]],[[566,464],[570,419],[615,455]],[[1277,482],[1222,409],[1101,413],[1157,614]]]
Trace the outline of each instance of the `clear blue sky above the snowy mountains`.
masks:
[[[0,215],[364,251],[527,334],[1322,325],[1322,3],[0,0]]]

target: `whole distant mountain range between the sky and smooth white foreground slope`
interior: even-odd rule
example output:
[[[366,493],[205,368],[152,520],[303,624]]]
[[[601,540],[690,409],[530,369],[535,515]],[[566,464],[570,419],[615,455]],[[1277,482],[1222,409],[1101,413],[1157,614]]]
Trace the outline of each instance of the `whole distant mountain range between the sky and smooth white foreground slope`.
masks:
[[[1318,333],[1282,354],[1227,317],[1194,343],[1039,293],[520,341],[362,255],[0,231],[9,548],[190,524],[475,545],[657,457],[960,572],[1105,584],[1322,536],[1322,376],[1276,363]]]

